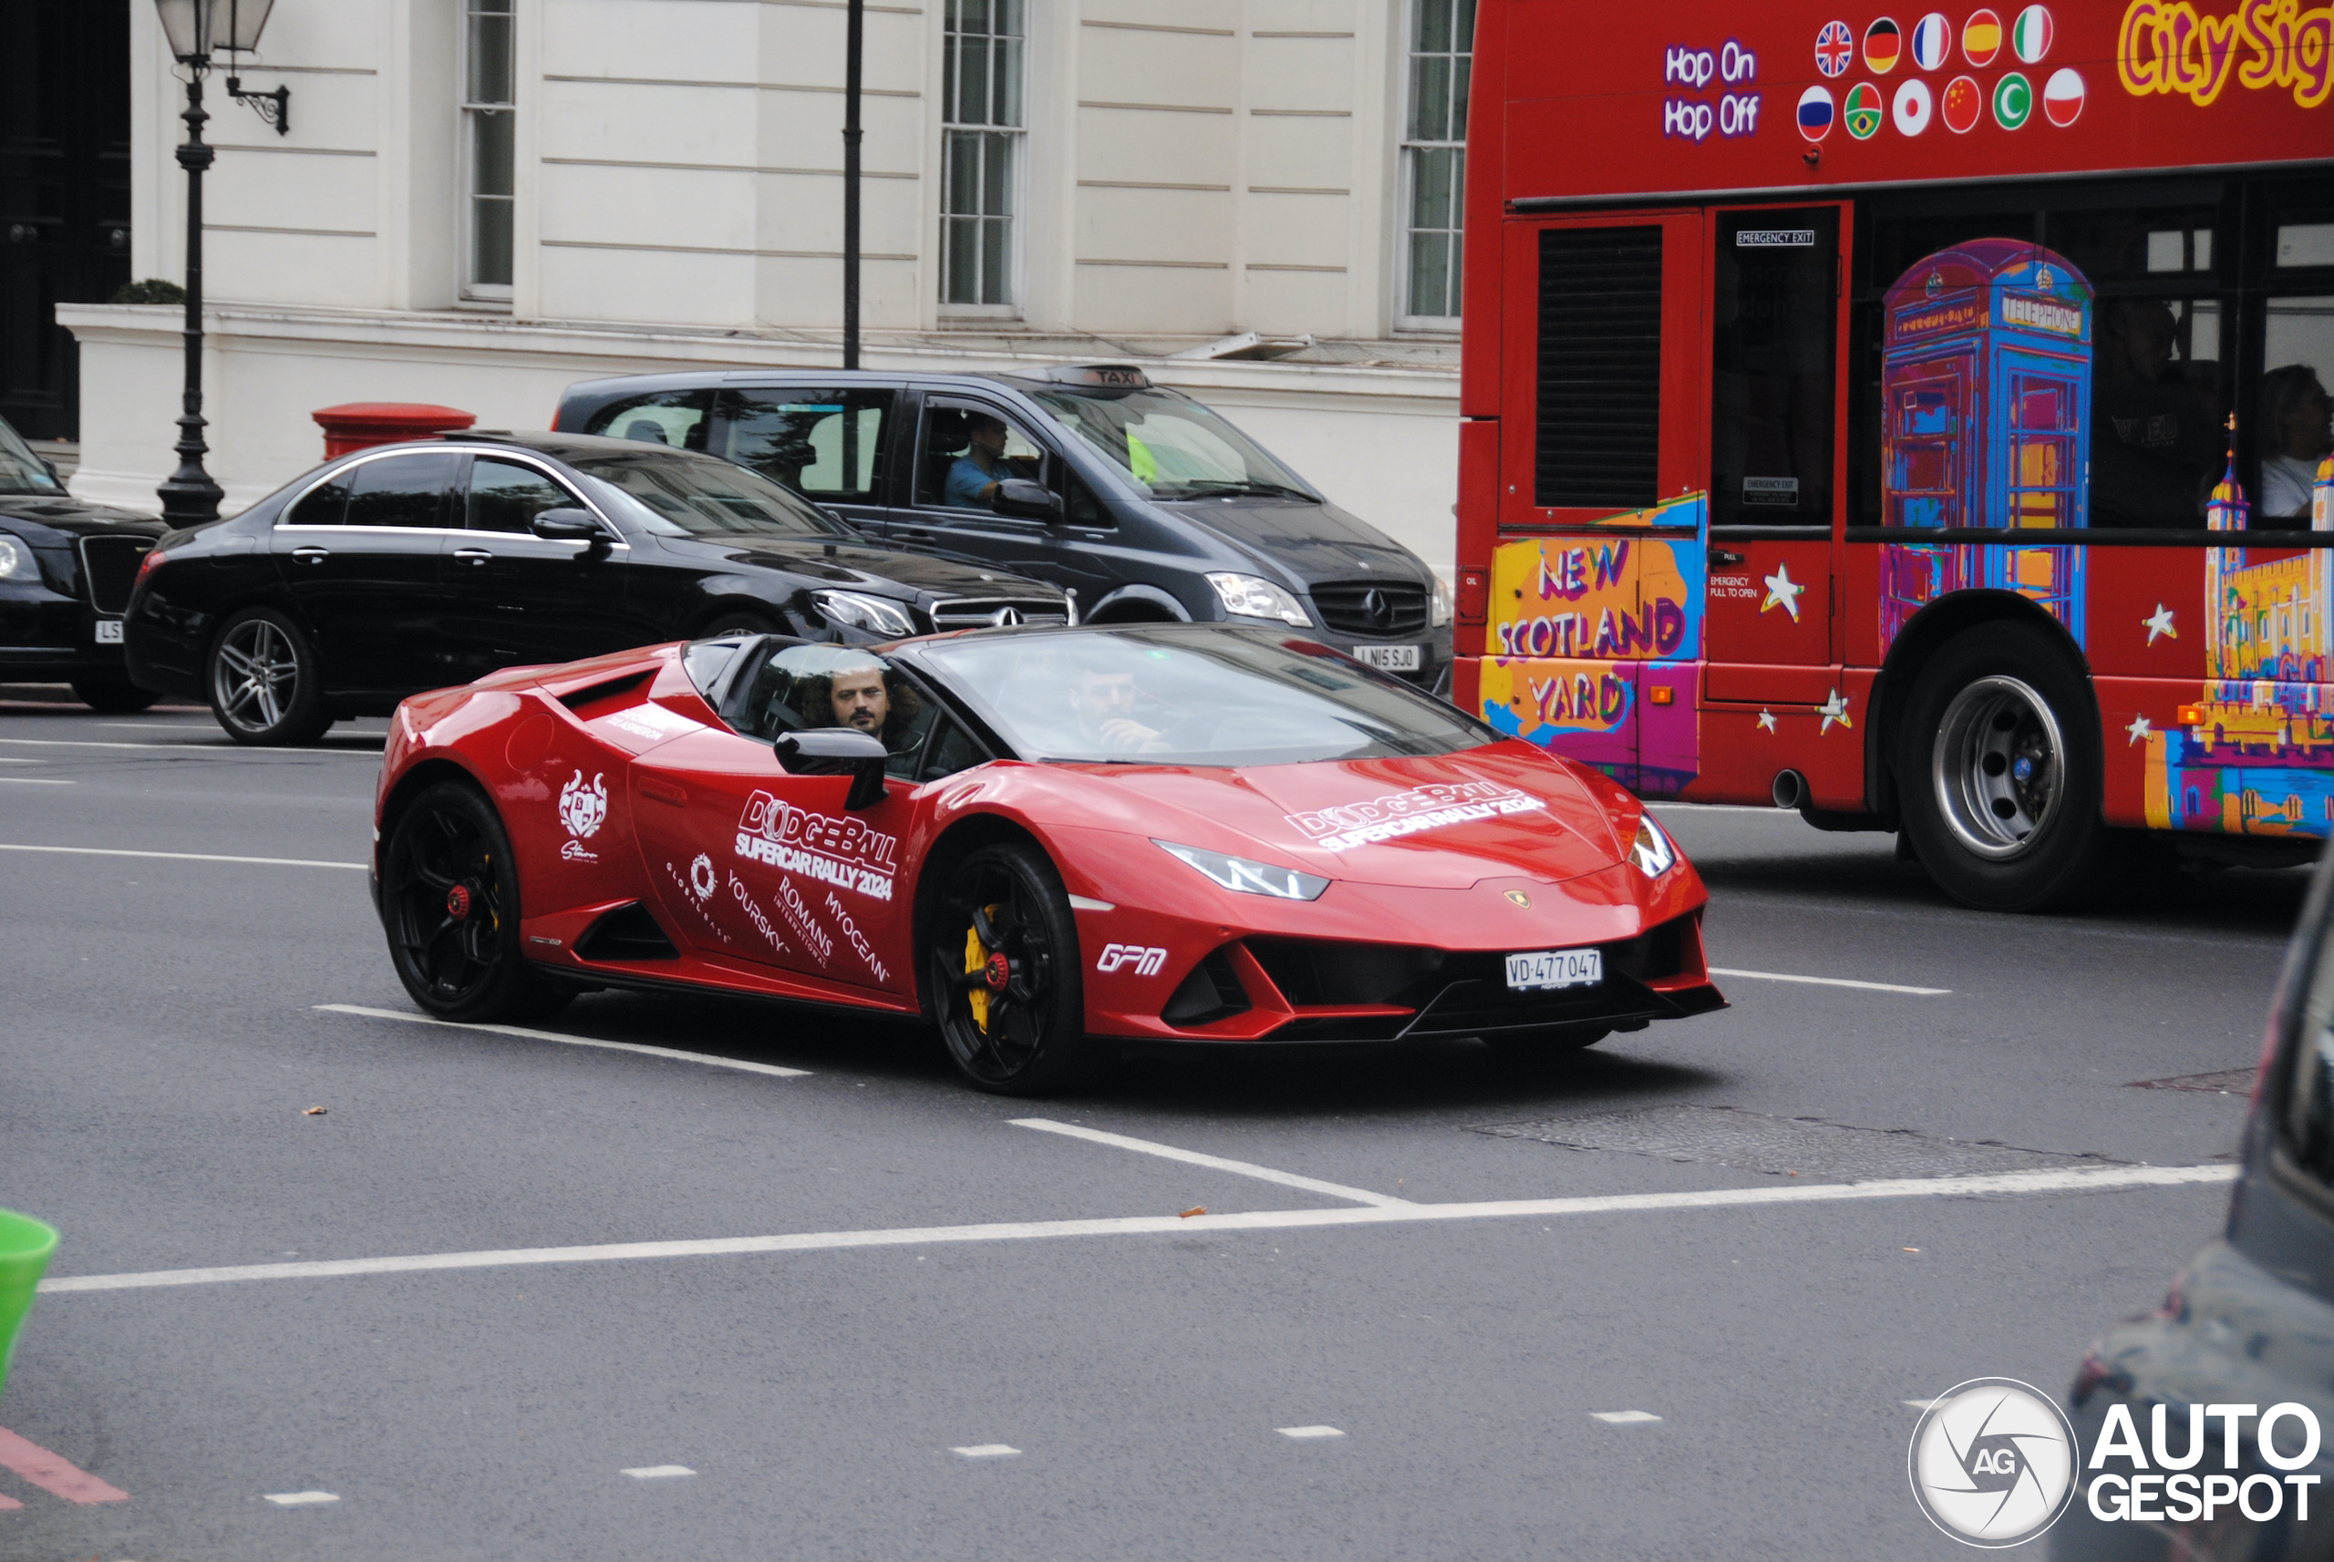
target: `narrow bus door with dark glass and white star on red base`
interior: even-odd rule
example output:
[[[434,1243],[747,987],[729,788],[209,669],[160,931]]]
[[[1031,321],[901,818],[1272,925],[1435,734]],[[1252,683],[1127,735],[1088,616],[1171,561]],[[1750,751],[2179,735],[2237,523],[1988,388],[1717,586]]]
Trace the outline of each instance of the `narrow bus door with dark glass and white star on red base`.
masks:
[[[1839,205],[1711,212],[1711,585],[1704,695],[1830,697],[1842,480]]]

